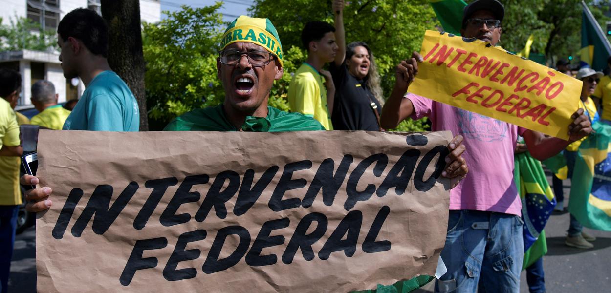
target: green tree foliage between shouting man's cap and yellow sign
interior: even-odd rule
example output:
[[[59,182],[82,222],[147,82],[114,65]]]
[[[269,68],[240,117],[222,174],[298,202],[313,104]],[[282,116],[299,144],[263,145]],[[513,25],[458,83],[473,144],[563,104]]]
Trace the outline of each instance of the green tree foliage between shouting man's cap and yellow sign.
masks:
[[[285,67],[282,80],[277,82],[270,97],[285,103],[290,73],[294,73],[307,54],[301,48],[301,30],[308,21],[333,23],[331,1],[317,0],[255,0],[250,10],[253,16],[269,18],[276,26],[284,49]],[[367,24],[367,25],[365,25]],[[426,29],[436,29],[439,22],[426,0],[412,1],[350,1],[344,9],[346,44],[367,43],[376,58],[382,79],[382,89],[390,94],[395,83],[394,68],[420,51]],[[404,121],[398,131],[423,131],[425,121]]]

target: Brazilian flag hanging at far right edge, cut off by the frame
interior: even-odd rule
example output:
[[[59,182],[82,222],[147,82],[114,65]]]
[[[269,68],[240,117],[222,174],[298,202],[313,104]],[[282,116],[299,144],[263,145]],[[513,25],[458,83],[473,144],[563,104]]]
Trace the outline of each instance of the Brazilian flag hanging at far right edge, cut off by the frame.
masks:
[[[592,128],[575,160],[569,212],[588,228],[611,231],[611,126]]]

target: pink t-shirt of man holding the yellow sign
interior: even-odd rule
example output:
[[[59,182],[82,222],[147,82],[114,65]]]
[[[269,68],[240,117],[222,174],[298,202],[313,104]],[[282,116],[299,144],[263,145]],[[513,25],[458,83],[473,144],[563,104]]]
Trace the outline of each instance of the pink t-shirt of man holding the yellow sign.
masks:
[[[408,93],[412,119],[429,117],[433,131],[461,134],[469,174],[450,190],[450,209],[521,215],[522,202],[513,182],[513,151],[525,129],[423,96]]]

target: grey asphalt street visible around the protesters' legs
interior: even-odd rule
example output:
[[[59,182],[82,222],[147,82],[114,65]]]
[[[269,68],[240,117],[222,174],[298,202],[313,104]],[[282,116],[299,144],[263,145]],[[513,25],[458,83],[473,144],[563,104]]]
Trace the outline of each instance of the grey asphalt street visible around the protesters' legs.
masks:
[[[548,181],[551,179],[548,176]],[[565,180],[565,206],[570,181]],[[545,228],[547,255],[543,257],[547,292],[611,292],[611,232],[585,229],[598,239],[594,248],[582,250],[564,244],[569,227],[568,212],[552,214]],[[16,237],[10,267],[9,293],[36,292],[35,230],[30,227]],[[433,291],[433,282],[419,292]],[[522,272],[520,292],[529,292]]]

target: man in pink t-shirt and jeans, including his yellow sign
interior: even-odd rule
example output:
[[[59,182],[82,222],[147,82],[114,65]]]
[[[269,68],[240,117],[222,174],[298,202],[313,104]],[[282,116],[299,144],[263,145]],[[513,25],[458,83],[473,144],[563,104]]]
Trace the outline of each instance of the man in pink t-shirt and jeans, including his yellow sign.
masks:
[[[397,66],[395,89],[382,109],[383,128],[428,117],[433,131],[464,137],[470,174],[450,190],[441,253],[448,272],[436,281],[439,292],[519,291],[524,243],[513,176],[516,140],[524,137],[541,160],[592,131],[584,110],[577,110],[581,82],[495,47],[504,17],[499,1],[476,0],[463,10],[466,38],[426,32],[422,54]]]

